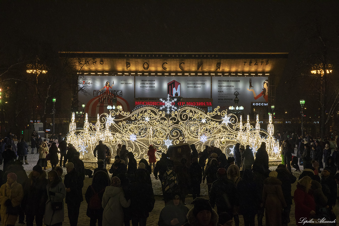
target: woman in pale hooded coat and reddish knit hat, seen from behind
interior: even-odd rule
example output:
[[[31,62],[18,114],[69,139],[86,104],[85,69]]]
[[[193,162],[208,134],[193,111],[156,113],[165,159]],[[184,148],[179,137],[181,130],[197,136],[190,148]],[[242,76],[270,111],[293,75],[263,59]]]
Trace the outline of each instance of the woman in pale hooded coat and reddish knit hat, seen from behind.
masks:
[[[107,186],[102,197],[102,226],[123,226],[124,213],[122,207],[129,207],[131,200],[126,201],[125,194],[120,187],[120,179],[113,177],[111,186]]]

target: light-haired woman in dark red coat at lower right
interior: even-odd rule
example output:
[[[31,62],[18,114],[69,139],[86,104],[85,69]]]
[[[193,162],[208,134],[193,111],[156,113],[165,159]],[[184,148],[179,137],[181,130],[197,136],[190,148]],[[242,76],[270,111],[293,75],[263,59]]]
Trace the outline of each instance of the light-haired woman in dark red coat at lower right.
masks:
[[[309,225],[304,223],[316,214],[316,204],[313,194],[310,192],[312,179],[303,177],[297,184],[297,189],[294,191],[295,217],[296,225]]]

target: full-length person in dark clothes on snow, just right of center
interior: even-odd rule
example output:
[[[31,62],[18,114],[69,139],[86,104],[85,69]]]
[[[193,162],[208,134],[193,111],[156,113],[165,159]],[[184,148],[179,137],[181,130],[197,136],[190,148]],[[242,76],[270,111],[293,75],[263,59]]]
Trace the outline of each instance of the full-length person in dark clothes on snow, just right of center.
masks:
[[[193,200],[195,200],[195,198],[200,197],[200,184],[202,182],[202,169],[198,163],[198,158],[192,159],[188,172],[190,173],[192,196]]]

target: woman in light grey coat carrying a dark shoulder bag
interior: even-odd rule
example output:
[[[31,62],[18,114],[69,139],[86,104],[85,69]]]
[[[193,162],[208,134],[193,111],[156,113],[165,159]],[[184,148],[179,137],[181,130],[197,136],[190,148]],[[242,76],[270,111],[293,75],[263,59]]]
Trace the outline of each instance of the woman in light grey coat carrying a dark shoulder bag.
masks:
[[[45,205],[44,224],[47,226],[61,226],[64,221],[64,202],[66,196],[65,185],[61,182],[55,170],[48,172],[48,183],[46,186],[47,201]],[[52,203],[60,203],[61,209],[53,210]],[[68,210],[69,211],[69,210]]]

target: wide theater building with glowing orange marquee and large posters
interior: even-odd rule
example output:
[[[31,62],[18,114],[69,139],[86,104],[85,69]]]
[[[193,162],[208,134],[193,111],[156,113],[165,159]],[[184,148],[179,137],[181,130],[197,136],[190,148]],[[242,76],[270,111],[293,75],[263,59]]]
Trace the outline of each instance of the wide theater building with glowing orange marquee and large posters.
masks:
[[[235,105],[236,91],[239,106],[244,107],[241,114],[266,117],[288,57],[288,53],[59,54],[76,65],[72,83],[80,81],[79,88],[85,90],[79,92],[77,102],[85,105],[90,120],[107,112],[108,105],[129,112],[142,105],[161,107],[176,93],[182,97],[179,107],[226,110]],[[76,86],[72,95],[78,91]]]

